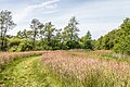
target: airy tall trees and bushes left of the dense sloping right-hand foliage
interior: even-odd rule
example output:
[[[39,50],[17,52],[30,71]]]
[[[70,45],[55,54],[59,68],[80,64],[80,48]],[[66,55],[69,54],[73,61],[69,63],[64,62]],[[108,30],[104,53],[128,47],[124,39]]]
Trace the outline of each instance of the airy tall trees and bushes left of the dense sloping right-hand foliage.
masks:
[[[79,38],[78,21],[73,16],[63,29],[57,29],[51,23],[41,23],[34,18],[30,30],[20,30],[16,36],[6,35],[16,24],[12,21],[10,11],[0,12],[0,50],[29,51],[29,50],[69,50],[93,49],[91,34]]]

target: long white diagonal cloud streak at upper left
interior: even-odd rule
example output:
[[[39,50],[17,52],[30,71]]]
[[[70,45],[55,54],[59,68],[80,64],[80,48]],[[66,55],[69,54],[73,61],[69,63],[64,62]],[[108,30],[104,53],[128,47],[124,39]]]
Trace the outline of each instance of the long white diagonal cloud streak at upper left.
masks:
[[[37,10],[39,8],[44,8],[46,10],[48,9],[54,9],[56,7],[56,2],[58,2],[60,0],[50,0],[50,1],[46,1],[46,2],[41,2],[40,4],[35,4],[35,5],[28,5],[25,9],[23,9],[22,11],[15,13],[14,15],[14,21],[16,23],[21,23],[23,20],[25,20],[28,15],[31,14],[31,12],[34,10]],[[52,12],[52,11],[51,11]],[[53,11],[54,12],[54,11]],[[48,13],[48,12],[47,12]]]

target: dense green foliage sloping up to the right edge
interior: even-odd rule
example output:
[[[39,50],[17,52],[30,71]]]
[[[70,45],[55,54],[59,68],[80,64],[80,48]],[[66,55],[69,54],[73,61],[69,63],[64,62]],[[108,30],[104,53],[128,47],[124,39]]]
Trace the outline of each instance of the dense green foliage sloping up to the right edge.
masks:
[[[119,28],[99,38],[95,45],[96,49],[113,49],[117,53],[130,54],[130,18],[126,18]]]

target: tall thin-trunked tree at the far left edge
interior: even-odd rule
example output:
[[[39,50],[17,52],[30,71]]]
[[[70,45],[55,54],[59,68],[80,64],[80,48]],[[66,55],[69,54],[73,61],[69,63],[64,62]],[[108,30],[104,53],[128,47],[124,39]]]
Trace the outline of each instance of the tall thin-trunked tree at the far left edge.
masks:
[[[12,13],[8,10],[0,12],[0,38],[1,50],[5,51],[6,47],[6,32],[13,29],[16,24],[12,21]]]

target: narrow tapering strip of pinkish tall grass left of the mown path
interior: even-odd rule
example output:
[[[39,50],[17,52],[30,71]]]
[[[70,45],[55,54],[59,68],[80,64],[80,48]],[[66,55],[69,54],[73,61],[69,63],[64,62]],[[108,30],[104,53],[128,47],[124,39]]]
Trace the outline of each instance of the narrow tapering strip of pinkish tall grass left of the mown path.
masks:
[[[43,51],[29,51],[29,52],[0,52],[0,72],[4,65],[8,65],[11,61],[18,58],[27,58],[32,55],[40,55]]]

